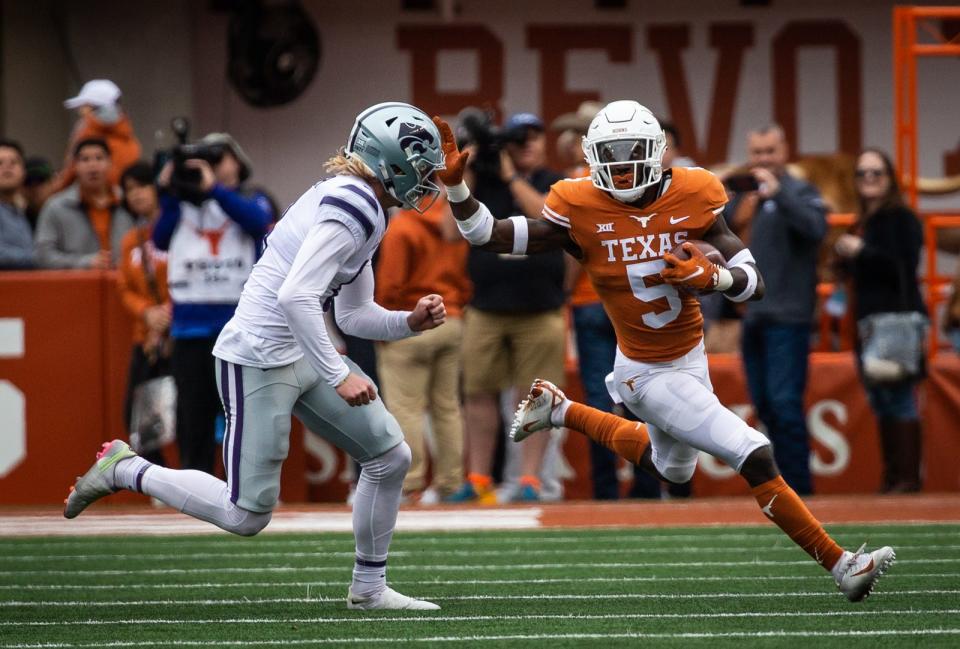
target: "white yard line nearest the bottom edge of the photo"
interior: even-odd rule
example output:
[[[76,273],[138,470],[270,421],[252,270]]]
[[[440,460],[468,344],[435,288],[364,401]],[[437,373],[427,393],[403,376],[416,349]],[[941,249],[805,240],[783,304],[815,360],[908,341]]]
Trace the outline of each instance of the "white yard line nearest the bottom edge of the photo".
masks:
[[[59,649],[61,647],[237,647],[312,644],[411,644],[433,642],[504,642],[509,640],[670,640],[711,638],[861,638],[884,636],[960,635],[960,628],[884,629],[856,631],[702,631],[697,633],[540,633],[516,635],[428,636],[423,638],[303,638],[286,640],[140,640],[112,642],[40,642],[0,645],[0,649]]]

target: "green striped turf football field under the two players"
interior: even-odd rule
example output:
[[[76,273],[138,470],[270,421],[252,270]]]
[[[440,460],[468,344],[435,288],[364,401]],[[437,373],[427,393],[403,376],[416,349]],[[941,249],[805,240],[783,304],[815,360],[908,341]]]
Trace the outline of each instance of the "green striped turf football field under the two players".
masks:
[[[897,550],[865,602],[773,527],[402,533],[419,614],[346,610],[346,534],[0,538],[0,647],[960,646],[960,525],[830,531]]]

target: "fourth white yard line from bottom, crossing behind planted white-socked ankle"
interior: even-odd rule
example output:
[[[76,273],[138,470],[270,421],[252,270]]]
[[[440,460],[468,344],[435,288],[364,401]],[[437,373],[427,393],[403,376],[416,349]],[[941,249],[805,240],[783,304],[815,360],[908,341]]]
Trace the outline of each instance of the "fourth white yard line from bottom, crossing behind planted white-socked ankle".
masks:
[[[346,570],[344,570],[346,572]],[[523,584],[630,584],[644,582],[706,582],[706,581],[823,581],[825,574],[817,575],[744,575],[744,576],[648,576],[648,577],[557,577],[549,579],[391,579],[393,585],[407,586],[503,586]],[[890,579],[956,579],[960,582],[960,572],[947,573],[902,573],[884,575],[884,581]],[[238,581],[238,582],[177,582],[169,584],[0,584],[0,590],[163,590],[165,588],[313,588],[346,587],[349,580],[343,581]],[[2,601],[2,600],[0,600]]]

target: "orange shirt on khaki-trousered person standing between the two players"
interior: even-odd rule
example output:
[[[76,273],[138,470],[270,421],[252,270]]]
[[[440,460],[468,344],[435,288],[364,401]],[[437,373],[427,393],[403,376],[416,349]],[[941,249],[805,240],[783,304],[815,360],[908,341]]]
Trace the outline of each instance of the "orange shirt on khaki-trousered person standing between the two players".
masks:
[[[377,262],[378,304],[409,311],[424,295],[437,293],[448,315],[463,313],[473,290],[467,277],[470,244],[459,233],[456,240],[444,238],[443,221],[452,218],[447,201],[438,198],[424,214],[404,210],[390,220]]]

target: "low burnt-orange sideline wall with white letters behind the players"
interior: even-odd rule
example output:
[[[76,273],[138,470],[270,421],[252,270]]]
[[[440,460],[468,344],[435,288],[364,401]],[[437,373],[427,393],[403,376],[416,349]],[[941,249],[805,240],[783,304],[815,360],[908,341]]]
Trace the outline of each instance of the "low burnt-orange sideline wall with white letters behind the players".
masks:
[[[0,505],[56,504],[101,442],[125,436],[129,322],[112,273],[4,273],[0,296]],[[739,359],[713,356],[710,371],[720,400],[752,422]],[[566,387],[579,393],[575,372]],[[960,491],[960,358],[937,357],[922,402],[925,489]],[[813,355],[807,417],[817,492],[876,491],[876,430],[849,353]],[[344,454],[299,427],[291,449],[282,500],[342,502],[351,471]],[[176,453],[168,450],[174,464]],[[574,476],[565,483],[567,497],[589,497],[586,439],[569,434],[565,456]],[[694,493],[747,491],[729,467],[702,456]]]

